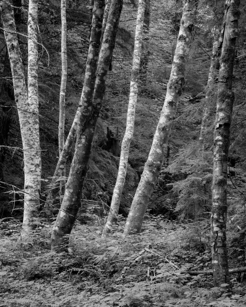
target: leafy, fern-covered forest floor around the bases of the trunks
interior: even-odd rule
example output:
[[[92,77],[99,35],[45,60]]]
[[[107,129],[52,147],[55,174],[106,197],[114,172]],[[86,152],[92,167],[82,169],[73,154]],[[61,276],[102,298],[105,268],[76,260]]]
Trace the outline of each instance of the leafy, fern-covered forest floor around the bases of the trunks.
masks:
[[[213,287],[212,276],[187,273],[211,269],[207,222],[185,225],[149,216],[141,234],[125,238],[125,219],[107,237],[101,236],[104,223],[95,214],[78,222],[69,253],[54,254],[52,223],[41,221],[23,244],[13,221],[13,234],[0,237],[0,307],[246,305],[246,284],[237,274],[228,293]]]

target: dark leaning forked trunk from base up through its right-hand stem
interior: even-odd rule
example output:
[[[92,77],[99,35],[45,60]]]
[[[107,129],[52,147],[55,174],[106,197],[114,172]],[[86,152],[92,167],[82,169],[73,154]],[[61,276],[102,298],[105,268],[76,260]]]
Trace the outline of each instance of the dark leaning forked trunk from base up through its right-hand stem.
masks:
[[[93,94],[93,103],[91,104],[92,95],[87,96],[86,92],[84,95],[82,93],[83,99],[81,111],[78,116],[75,153],[66,184],[66,192],[62,201],[62,211],[58,214],[51,236],[53,251],[66,250],[69,243],[68,235],[73,228],[78,209],[81,205],[81,192],[89,167],[92,142],[96,130],[97,119],[101,110],[105,91],[105,80],[109,70],[121,9],[122,0],[113,0],[109,10],[108,22],[97,65],[97,78]],[[99,47],[100,43],[98,45],[98,48]],[[87,77],[88,74],[86,74],[86,78]]]

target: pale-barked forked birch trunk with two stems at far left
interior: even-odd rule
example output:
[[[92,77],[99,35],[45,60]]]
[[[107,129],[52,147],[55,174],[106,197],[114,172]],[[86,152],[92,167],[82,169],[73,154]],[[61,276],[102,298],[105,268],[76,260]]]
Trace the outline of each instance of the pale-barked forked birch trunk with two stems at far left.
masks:
[[[34,4],[35,6],[35,4]],[[38,107],[37,107],[37,88],[36,88],[36,60],[35,60],[35,44],[31,55],[28,59],[30,67],[30,95],[33,95],[34,100],[28,103],[26,91],[25,76],[23,72],[21,52],[16,35],[16,27],[14,23],[14,12],[8,0],[0,1],[0,9],[4,28],[6,45],[9,53],[11,72],[13,77],[14,97],[18,107],[19,122],[22,136],[22,146],[24,154],[24,218],[23,218],[23,233],[28,233],[35,228],[34,220],[38,217],[39,209],[39,193],[40,176],[41,176],[41,158],[39,147],[38,133]],[[34,9],[31,6],[31,11]],[[34,9],[35,11],[35,9]],[[33,13],[30,13],[32,15]],[[35,15],[33,16],[35,18]],[[35,23],[35,21],[34,21]],[[34,37],[35,26],[32,21],[28,21],[28,31],[31,37]],[[34,36],[33,36],[34,35]],[[29,43],[29,42],[28,42]],[[32,66],[33,65],[33,66]]]

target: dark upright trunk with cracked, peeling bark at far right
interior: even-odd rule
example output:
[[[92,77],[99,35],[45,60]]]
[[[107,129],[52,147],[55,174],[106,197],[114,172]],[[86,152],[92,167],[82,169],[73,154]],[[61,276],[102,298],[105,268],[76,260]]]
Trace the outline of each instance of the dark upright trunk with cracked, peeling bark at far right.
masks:
[[[211,248],[214,286],[230,285],[226,248],[227,161],[230,145],[230,125],[234,93],[232,91],[233,64],[240,0],[226,0],[222,26],[220,72],[214,129],[214,163],[212,184]]]

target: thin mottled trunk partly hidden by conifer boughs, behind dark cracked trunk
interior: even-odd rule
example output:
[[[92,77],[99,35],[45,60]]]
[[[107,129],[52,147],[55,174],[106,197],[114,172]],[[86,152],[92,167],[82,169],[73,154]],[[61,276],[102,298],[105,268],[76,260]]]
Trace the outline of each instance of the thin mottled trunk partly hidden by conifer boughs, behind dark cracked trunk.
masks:
[[[209,103],[210,98],[212,94],[212,87],[214,84],[214,75],[215,75],[215,68],[216,68],[216,61],[217,61],[217,52],[218,52],[218,44],[219,44],[219,37],[220,37],[220,29],[221,24],[216,25],[215,33],[214,33],[214,42],[213,42],[213,49],[212,49],[212,56],[211,56],[211,62],[210,62],[210,68],[208,73],[208,82],[206,86],[205,91],[205,107],[203,110],[203,117],[201,122],[201,130],[200,130],[200,149],[201,151],[204,150],[204,142],[205,142],[205,136],[206,136],[206,129],[208,128],[208,118],[209,118]]]

